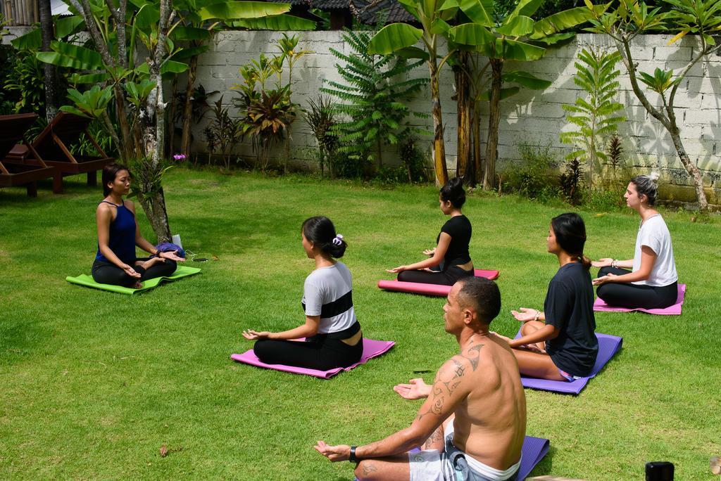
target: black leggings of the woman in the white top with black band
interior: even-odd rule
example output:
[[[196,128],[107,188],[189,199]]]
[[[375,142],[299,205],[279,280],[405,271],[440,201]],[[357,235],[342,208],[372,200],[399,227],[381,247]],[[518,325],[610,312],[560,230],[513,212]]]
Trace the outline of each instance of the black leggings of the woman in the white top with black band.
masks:
[[[256,341],[253,352],[265,364],[305,367],[327,371],[336,367],[348,367],[361,360],[363,338],[355,346],[348,346],[340,339],[318,334],[305,341]]]

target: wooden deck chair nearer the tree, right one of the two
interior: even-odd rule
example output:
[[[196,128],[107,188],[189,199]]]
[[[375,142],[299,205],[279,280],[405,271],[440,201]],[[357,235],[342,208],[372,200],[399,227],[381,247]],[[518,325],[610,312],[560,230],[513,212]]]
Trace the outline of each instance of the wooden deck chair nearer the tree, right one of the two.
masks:
[[[16,162],[38,165],[45,161],[48,166],[58,169],[58,181],[53,182],[53,192],[63,192],[63,176],[87,173],[87,184],[97,185],[97,171],[102,170],[115,159],[107,156],[95,139],[88,132],[91,120],[68,112],[58,112],[55,118],[45,127],[32,142],[35,151],[29,145],[15,145],[8,158]],[[71,153],[71,146],[80,139],[80,135],[92,143],[99,156],[79,156]],[[39,155],[38,155],[39,154]]]

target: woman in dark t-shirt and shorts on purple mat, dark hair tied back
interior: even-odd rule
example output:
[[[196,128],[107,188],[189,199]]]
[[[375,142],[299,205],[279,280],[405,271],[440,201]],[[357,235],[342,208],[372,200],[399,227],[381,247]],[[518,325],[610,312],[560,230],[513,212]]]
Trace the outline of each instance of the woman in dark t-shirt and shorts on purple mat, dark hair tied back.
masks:
[[[547,243],[560,269],[548,286],[544,312],[525,307],[511,311],[523,327],[520,338],[508,341],[521,374],[573,381],[590,374],[598,354],[590,260],[583,255],[585,225],[580,215],[554,217]]]

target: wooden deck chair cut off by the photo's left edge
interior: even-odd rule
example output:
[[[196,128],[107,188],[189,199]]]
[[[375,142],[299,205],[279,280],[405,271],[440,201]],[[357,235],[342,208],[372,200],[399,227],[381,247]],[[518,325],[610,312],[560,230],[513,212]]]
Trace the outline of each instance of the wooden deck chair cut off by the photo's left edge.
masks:
[[[39,157],[37,165],[29,166],[7,161],[6,156],[19,140],[27,143],[25,132],[36,118],[37,114],[0,115],[0,187],[25,186],[30,197],[37,197],[37,181],[50,177],[54,181],[56,168],[46,165]],[[27,145],[30,151],[34,150],[32,145]]]

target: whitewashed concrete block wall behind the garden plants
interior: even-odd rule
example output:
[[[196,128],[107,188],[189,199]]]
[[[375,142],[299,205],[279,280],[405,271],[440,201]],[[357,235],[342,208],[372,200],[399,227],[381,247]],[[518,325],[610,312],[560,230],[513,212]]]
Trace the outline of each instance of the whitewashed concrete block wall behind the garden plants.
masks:
[[[319,92],[327,80],[340,80],[335,68],[337,59],[331,48],[350,53],[350,48],[342,41],[341,32],[297,32],[301,37],[298,49],[311,50],[314,53],[302,58],[293,71],[293,100],[306,106],[307,98]],[[232,86],[239,81],[238,68],[257,58],[260,53],[270,54],[277,51],[275,40],[278,32],[220,32],[211,45],[211,50],[199,60],[198,81],[208,91],[218,90],[224,95],[224,103],[231,104],[234,96]],[[673,46],[666,45],[668,38],[662,35],[637,37],[634,42],[634,59],[640,63],[643,71],[654,68],[682,68],[686,66],[696,51],[696,40],[684,37]],[[573,42],[556,49],[550,49],[541,60],[532,63],[508,63],[507,70],[525,70],[536,76],[547,78],[553,84],[545,91],[522,89],[519,94],[501,102],[502,116],[499,127],[499,168],[512,168],[519,158],[519,143],[551,145],[552,152],[559,161],[569,151],[568,145],[560,143],[558,134],[568,128],[563,104],[570,104],[583,91],[573,83],[574,63],[581,48],[603,48],[613,50],[611,40],[603,35],[578,35]],[[676,184],[680,189],[673,196],[692,200],[694,194],[691,179],[676,157],[671,138],[658,121],[647,114],[636,96],[634,96],[625,75],[622,63],[618,65],[622,76],[619,78],[621,89],[619,101],[627,106],[624,114],[628,121],[619,127],[624,139],[624,148],[632,166],[639,171],[660,169],[666,181]],[[427,76],[425,66],[417,68],[414,76]],[[218,96],[221,94],[217,94]],[[454,79],[449,68],[441,73],[441,104],[445,125],[446,154],[448,168],[452,172],[456,165],[456,103],[451,100],[454,94]],[[658,96],[647,91],[651,102],[660,104]],[[217,97],[214,97],[215,100]],[[709,55],[694,66],[686,76],[684,84],[678,89],[675,102],[682,140],[691,159],[702,169],[705,184],[709,187],[712,202],[721,203],[718,193],[721,189],[721,54]],[[430,93],[428,89],[410,103],[417,112],[430,112]],[[487,108],[487,104],[484,105]],[[232,108],[231,108],[232,110]],[[412,119],[431,130],[432,120]],[[482,138],[486,135],[487,117],[482,119]],[[195,126],[195,148],[204,150],[204,122]],[[313,167],[311,159],[315,140],[302,117],[292,127],[291,156],[296,162]],[[252,158],[249,145],[239,145],[240,156]],[[280,155],[282,150],[276,150]]]

